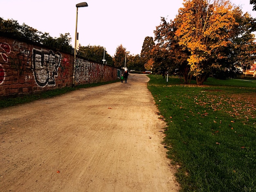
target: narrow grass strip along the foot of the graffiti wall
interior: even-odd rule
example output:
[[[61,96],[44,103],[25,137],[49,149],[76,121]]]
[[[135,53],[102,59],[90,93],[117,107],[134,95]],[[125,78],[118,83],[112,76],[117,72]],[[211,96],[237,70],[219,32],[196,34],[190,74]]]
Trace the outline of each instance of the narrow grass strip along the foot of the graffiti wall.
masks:
[[[76,85],[75,87],[64,87],[61,89],[52,89],[46,92],[42,92],[40,94],[31,94],[31,95],[25,95],[22,97],[17,98],[6,98],[6,99],[0,99],[0,109],[4,107],[10,107],[15,106],[23,103],[29,103],[34,100],[43,99],[43,98],[50,98],[54,96],[58,96],[61,94],[65,94],[67,92],[71,92],[77,89],[87,88],[87,87],[96,87],[100,85],[106,85],[109,83],[115,83],[120,80],[110,81],[110,82],[101,82],[101,83],[92,83],[92,84],[85,84],[85,85]]]

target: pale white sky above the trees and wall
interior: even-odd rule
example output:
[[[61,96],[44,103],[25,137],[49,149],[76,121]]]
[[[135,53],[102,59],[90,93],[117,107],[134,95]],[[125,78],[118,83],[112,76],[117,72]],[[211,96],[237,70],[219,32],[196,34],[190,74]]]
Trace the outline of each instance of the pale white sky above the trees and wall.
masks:
[[[250,0],[231,0],[256,18]],[[173,20],[183,0],[0,0],[0,17],[17,20],[52,37],[70,33],[74,47],[76,4],[79,7],[77,32],[79,44],[106,48],[111,56],[119,45],[130,54],[140,54],[146,36],[154,37],[161,17]]]

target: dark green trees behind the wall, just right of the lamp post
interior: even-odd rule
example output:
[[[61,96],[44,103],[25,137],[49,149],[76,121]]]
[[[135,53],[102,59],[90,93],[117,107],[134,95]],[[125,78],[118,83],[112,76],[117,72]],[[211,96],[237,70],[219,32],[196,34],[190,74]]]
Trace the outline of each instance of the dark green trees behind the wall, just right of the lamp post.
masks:
[[[105,52],[105,56],[104,56],[104,52]],[[98,46],[96,46],[96,45],[94,45],[94,46],[79,45],[77,54],[82,57],[88,58],[90,60],[94,60],[98,63],[103,63],[102,60],[104,58],[106,60],[104,62],[104,64],[112,65],[112,66],[114,65],[113,58],[108,54],[108,52],[106,51],[106,48],[101,47],[99,45]]]

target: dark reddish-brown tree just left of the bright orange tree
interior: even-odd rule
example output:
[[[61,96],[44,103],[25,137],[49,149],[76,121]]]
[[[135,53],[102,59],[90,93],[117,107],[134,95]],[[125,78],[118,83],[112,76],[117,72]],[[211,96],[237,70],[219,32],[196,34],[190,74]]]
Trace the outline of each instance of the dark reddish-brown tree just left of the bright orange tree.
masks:
[[[176,31],[174,21],[167,22],[165,18],[161,18],[160,25],[154,31],[157,41],[152,51],[155,70],[176,74],[184,83],[189,83],[191,80],[190,66],[187,61],[189,51],[179,45],[178,38],[175,36]]]

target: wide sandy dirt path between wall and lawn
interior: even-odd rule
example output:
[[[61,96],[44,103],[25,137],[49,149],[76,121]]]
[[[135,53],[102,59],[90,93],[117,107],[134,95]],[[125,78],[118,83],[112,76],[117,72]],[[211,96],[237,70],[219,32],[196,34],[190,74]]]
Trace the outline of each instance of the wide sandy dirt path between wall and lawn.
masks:
[[[177,191],[146,82],[0,109],[0,191]]]

